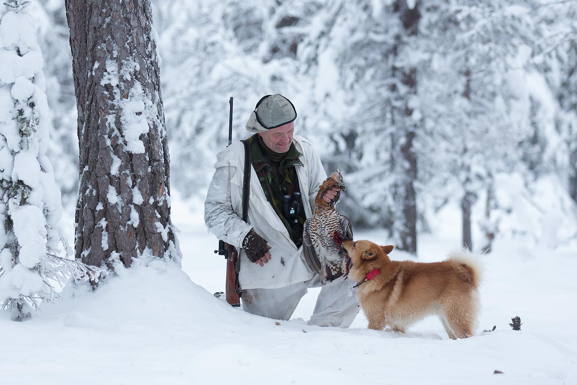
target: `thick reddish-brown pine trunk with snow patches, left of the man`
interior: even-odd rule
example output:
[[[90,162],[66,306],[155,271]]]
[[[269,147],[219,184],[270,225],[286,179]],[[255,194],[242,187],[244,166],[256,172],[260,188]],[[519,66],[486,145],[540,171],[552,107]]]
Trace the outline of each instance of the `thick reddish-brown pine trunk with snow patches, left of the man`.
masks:
[[[78,110],[76,258],[180,261],[149,0],[66,0]]]

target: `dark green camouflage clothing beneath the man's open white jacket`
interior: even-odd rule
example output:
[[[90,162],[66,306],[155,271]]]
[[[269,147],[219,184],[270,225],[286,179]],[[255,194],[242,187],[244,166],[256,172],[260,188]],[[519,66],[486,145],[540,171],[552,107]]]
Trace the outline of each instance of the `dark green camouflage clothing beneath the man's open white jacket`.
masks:
[[[251,160],[254,171],[256,171],[264,195],[272,205],[272,208],[275,209],[276,215],[282,220],[284,227],[286,227],[288,234],[290,234],[291,240],[293,240],[297,247],[300,247],[302,245],[302,227],[306,220],[305,210],[301,204],[301,212],[295,216],[297,222],[287,220],[283,216],[280,197],[282,195],[293,196],[295,191],[300,192],[301,188],[298,184],[297,170],[295,167],[304,167],[301,160],[299,160],[302,154],[298,152],[294,143],[290,145],[286,155],[280,161],[279,166],[280,173],[284,173],[284,180],[277,181],[278,178],[274,175],[275,173],[273,173],[272,166],[268,163],[264,156],[263,149],[261,149],[260,144],[258,144],[257,135],[258,134],[254,134],[249,138],[250,156],[252,157]],[[302,199],[308,201],[308,196],[303,196]]]

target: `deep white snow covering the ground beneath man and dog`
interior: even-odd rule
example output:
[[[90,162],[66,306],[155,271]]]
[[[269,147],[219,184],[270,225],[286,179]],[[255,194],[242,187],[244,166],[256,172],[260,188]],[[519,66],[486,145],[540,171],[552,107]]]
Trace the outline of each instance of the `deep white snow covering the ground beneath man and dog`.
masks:
[[[455,233],[421,236],[418,260],[458,245],[458,218],[440,219]],[[498,242],[484,257],[477,335],[452,341],[434,317],[407,334],[367,330],[362,312],[348,330],[308,326],[318,290],[279,325],[232,308],[212,296],[225,261],[201,215],[175,199],[173,222],[182,270],[123,270],[24,323],[0,312],[0,384],[577,384],[575,251]],[[355,238],[386,242],[379,230]],[[508,326],[513,316],[522,331]]]

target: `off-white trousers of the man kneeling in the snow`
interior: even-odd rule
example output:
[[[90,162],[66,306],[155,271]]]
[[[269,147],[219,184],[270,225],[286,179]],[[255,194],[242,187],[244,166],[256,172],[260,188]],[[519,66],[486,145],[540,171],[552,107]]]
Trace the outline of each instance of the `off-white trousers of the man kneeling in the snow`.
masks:
[[[355,283],[353,279],[340,276],[323,285],[317,274],[309,281],[279,289],[246,289],[242,290],[242,309],[267,318],[288,320],[308,288],[322,286],[307,323],[346,328],[351,326],[359,311],[357,289],[353,289]]]

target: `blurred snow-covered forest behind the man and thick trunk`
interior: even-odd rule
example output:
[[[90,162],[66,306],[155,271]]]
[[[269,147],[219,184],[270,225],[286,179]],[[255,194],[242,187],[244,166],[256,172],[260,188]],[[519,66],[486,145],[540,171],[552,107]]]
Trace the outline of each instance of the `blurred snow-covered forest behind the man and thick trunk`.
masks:
[[[455,205],[475,249],[499,237],[577,247],[577,2],[153,3],[171,185],[198,210],[227,144],[228,97],[239,140],[257,100],[278,93],[327,171],[343,171],[350,188],[339,210],[358,228],[384,227],[414,251],[436,212]],[[48,156],[73,212],[65,7],[28,10],[44,57]]]

